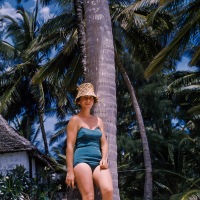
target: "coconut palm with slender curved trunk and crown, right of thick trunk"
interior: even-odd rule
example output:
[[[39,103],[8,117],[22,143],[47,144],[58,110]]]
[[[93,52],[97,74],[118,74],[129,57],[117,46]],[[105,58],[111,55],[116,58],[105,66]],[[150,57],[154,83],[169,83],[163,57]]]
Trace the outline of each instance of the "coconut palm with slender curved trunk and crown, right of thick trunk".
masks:
[[[150,4],[150,3],[149,3]],[[145,126],[143,122],[143,117],[141,114],[140,106],[136,98],[134,87],[138,87],[136,83],[137,75],[130,75],[130,77],[134,78],[131,83],[130,77],[128,76],[122,62],[127,62],[127,58],[129,61],[133,60],[132,63],[140,63],[140,68],[144,69],[149,60],[161,49],[164,42],[159,40],[159,37],[155,37],[155,35],[159,36],[159,34],[169,32],[170,27],[172,26],[172,16],[169,13],[159,13],[160,18],[156,18],[156,23],[159,23],[160,26],[154,25],[154,36],[152,37],[152,30],[147,24],[148,15],[155,9],[154,7],[147,8],[145,2],[137,1],[132,2],[130,5],[125,8],[118,7],[118,9],[114,12],[114,20],[117,21],[114,27],[117,27],[117,37],[115,38],[116,46],[118,49],[118,53],[116,53],[116,65],[119,71],[122,74],[124,82],[127,86],[128,91],[130,92],[131,101],[133,104],[133,108],[135,111],[136,119],[140,129],[142,147],[143,147],[143,156],[144,156],[144,165],[145,165],[145,182],[144,182],[144,199],[152,199],[152,164],[150,158],[150,150],[147,140],[147,135],[145,131]],[[120,26],[120,27],[118,27]],[[162,28],[161,28],[162,27]],[[119,31],[121,29],[121,32]],[[166,37],[165,36],[165,37]],[[163,36],[162,36],[163,37]],[[120,38],[120,39],[119,39]],[[123,38],[123,42],[121,42],[121,38]],[[121,45],[118,48],[119,44]],[[127,51],[127,49],[129,51]],[[124,53],[124,52],[128,53]],[[128,56],[124,56],[128,54]],[[132,56],[132,58],[131,58]],[[120,58],[121,59],[120,59]],[[123,61],[124,58],[124,61]],[[121,61],[122,60],[122,61]],[[133,64],[134,66],[135,64]],[[139,71],[139,68],[138,70]],[[143,74],[143,71],[142,73]],[[135,83],[134,83],[135,82]]]

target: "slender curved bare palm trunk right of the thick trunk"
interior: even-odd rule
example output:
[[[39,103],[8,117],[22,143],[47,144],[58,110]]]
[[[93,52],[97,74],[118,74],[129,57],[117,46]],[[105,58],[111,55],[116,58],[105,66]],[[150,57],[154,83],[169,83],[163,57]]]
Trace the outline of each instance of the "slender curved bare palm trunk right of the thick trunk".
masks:
[[[149,145],[147,140],[147,135],[145,131],[145,126],[143,122],[143,117],[141,114],[140,106],[138,104],[134,88],[130,82],[130,79],[125,71],[124,66],[122,65],[120,59],[116,56],[116,62],[119,67],[119,70],[123,76],[124,82],[126,87],[128,88],[131,101],[133,104],[133,108],[135,110],[136,119],[139,124],[140,136],[142,140],[142,147],[143,147],[143,156],[144,156],[144,165],[145,165],[145,185],[144,185],[144,200],[152,200],[152,165],[151,165],[151,157],[149,151]]]

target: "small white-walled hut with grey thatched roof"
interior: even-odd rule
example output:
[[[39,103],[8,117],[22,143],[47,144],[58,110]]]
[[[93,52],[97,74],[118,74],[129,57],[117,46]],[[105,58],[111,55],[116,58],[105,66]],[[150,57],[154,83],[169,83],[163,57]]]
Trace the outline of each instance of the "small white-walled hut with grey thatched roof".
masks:
[[[53,168],[50,158],[20,136],[0,115],[0,174],[5,175],[17,165],[24,166],[30,177],[35,177],[41,167]]]

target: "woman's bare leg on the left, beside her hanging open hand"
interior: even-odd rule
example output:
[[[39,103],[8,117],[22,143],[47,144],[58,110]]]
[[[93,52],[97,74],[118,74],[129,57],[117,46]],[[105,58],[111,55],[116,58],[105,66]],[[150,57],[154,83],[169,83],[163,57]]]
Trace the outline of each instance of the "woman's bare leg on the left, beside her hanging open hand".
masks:
[[[94,184],[90,166],[80,163],[74,167],[74,173],[82,200],[94,200]]]

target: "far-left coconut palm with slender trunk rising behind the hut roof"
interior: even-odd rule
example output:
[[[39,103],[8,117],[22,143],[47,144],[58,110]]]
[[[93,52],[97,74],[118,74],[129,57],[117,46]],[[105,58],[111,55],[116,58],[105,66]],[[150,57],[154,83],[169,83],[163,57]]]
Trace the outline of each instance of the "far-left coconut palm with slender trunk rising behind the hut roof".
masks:
[[[27,109],[33,109],[26,103],[28,99],[32,99],[36,105],[36,113],[39,117],[41,132],[44,141],[45,153],[48,154],[48,144],[44,129],[44,91],[42,84],[32,86],[30,78],[32,74],[38,69],[40,60],[37,56],[28,57],[24,52],[30,42],[37,35],[37,13],[38,4],[32,15],[28,14],[23,7],[19,7],[17,11],[22,19],[15,20],[10,16],[2,16],[4,21],[7,21],[7,37],[12,39],[13,45],[1,40],[1,55],[5,60],[12,60],[12,66],[1,74],[1,113],[8,115],[10,108],[15,106],[18,114],[23,113],[22,106]],[[41,59],[41,58],[40,58]],[[21,93],[22,92],[22,93]],[[27,94],[27,99],[21,100],[22,94]],[[29,95],[29,96],[28,96]],[[31,97],[32,96],[32,97]],[[21,105],[20,105],[21,104]],[[13,105],[10,107],[10,105]],[[17,106],[16,106],[17,105]],[[19,107],[18,107],[19,106]],[[18,107],[18,108],[17,108]],[[29,111],[30,112],[30,111]],[[33,112],[35,112],[33,110]]]

